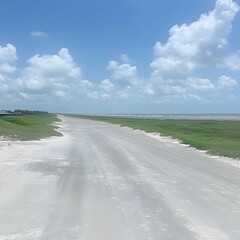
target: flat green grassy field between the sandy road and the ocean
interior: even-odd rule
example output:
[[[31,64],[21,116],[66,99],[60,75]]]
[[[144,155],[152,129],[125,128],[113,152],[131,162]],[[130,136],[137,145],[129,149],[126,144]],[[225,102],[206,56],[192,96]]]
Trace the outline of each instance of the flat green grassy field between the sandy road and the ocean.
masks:
[[[240,121],[156,120],[72,115],[171,136],[213,155],[240,158]]]

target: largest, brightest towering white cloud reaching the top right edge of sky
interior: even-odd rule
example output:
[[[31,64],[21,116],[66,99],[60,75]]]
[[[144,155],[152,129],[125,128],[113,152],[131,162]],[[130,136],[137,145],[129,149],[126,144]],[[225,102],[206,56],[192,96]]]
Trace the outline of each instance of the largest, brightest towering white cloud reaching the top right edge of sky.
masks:
[[[232,0],[217,0],[215,9],[189,25],[175,25],[166,44],[157,42],[157,58],[152,67],[157,71],[192,71],[201,65],[222,66],[226,59],[227,35],[239,7]]]

